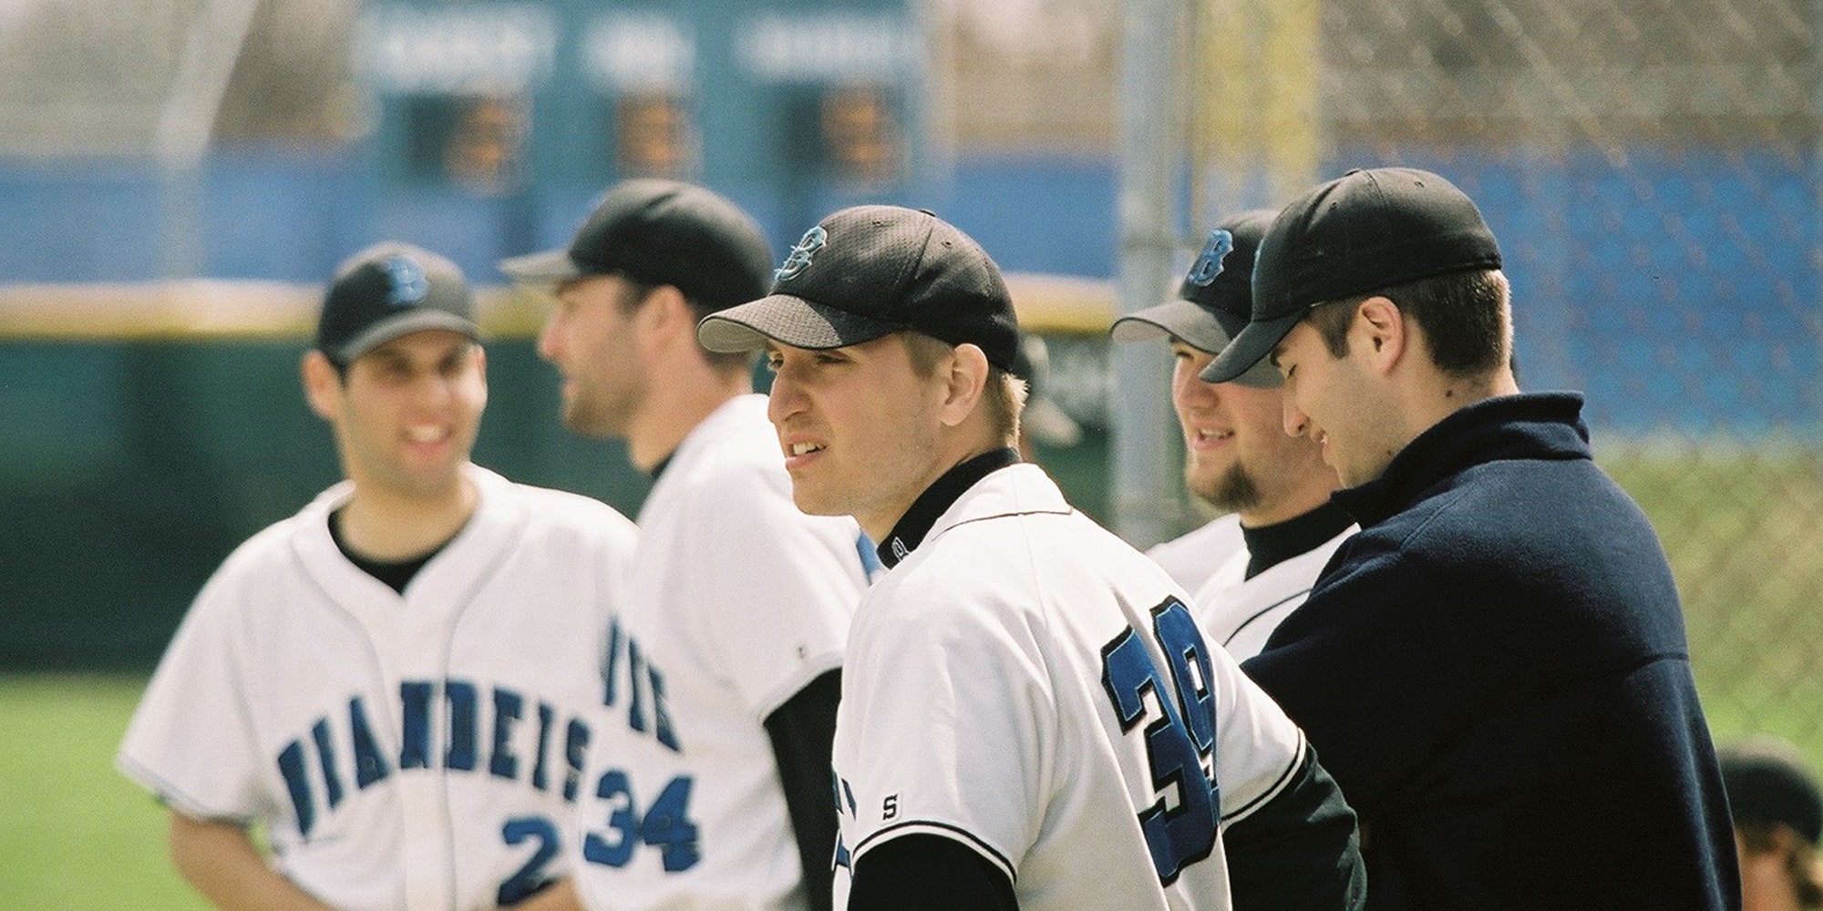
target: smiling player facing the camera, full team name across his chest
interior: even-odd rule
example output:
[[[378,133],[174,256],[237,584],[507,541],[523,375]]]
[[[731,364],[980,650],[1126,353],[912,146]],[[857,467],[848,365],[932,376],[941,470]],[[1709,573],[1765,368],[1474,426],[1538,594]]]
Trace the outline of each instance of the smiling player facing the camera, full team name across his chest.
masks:
[[[534,907],[567,873],[633,523],[469,461],[485,361],[438,255],[343,264],[303,381],[346,481],[210,578],[118,765],[224,909]]]

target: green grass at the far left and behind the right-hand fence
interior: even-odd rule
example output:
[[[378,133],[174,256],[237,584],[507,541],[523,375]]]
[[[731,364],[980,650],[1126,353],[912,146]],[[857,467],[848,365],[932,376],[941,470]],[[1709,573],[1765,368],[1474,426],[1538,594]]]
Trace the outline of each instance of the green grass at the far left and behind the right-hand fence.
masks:
[[[1717,740],[1774,732],[1823,765],[1823,459],[1641,446],[1602,463],[1664,539]],[[166,858],[164,809],[113,769],[142,685],[0,676],[5,907],[208,907]]]

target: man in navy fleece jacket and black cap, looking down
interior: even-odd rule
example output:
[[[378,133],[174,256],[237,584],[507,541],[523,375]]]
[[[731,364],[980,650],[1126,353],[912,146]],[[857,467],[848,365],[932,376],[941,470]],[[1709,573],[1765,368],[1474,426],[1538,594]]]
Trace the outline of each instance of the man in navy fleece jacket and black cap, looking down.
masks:
[[[1739,907],[1677,589],[1575,394],[1520,394],[1500,250],[1438,175],[1349,171],[1260,244],[1252,319],[1362,530],[1247,672],[1360,811],[1376,907]]]

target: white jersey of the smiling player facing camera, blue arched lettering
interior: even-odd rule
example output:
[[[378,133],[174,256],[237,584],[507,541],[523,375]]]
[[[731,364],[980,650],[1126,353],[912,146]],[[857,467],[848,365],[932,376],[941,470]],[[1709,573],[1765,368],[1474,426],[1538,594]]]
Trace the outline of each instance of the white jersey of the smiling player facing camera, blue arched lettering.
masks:
[[[177,811],[264,822],[279,869],[339,909],[490,909],[565,873],[634,528],[465,472],[476,512],[403,596],[330,537],[346,481],[241,545],[120,745]]]

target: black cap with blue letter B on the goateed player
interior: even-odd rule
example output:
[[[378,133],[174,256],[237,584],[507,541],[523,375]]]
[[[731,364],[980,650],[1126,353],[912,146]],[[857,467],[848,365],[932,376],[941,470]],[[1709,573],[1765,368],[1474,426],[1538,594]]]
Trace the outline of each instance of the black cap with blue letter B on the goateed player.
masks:
[[[1254,251],[1272,215],[1272,210],[1252,210],[1218,222],[1178,288],[1178,301],[1127,313],[1108,326],[1108,335],[1114,341],[1170,335],[1192,348],[1221,353],[1252,315]],[[1272,364],[1262,361],[1234,383],[1272,388],[1282,379]]]

